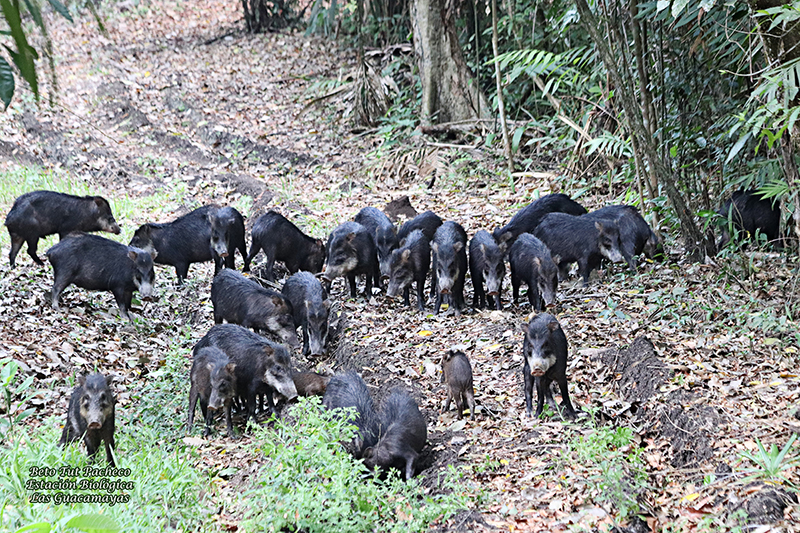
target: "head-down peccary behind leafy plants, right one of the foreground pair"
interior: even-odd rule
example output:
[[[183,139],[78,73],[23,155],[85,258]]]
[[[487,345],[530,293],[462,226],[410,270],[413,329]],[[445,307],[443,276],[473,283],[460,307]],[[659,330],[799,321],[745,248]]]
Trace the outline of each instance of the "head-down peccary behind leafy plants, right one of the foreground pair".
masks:
[[[397,468],[406,479],[414,476],[414,463],[425,447],[428,429],[417,402],[408,393],[395,389],[381,403],[380,438],[374,447],[364,449],[367,468]]]

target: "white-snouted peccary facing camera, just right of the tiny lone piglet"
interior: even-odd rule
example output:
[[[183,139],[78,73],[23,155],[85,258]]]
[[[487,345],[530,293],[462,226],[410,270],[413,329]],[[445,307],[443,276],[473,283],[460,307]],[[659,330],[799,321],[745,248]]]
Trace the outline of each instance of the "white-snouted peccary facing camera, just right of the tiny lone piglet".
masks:
[[[525,408],[528,416],[532,412],[533,386],[536,385],[536,416],[542,414],[544,401],[555,406],[550,383],[555,381],[561,389],[563,405],[569,418],[575,418],[575,410],[569,401],[567,390],[567,337],[556,317],[541,313],[528,324],[520,325],[525,334],[522,355],[525,364],[522,369],[525,378]],[[557,410],[557,409],[556,409]]]

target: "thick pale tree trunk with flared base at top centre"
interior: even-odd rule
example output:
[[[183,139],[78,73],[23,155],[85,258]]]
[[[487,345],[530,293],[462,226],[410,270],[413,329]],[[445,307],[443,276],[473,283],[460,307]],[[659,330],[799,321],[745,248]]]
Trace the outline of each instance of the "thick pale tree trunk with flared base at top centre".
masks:
[[[452,0],[451,0],[452,2]],[[422,79],[422,122],[490,118],[491,109],[467,67],[447,0],[414,0],[411,24]]]

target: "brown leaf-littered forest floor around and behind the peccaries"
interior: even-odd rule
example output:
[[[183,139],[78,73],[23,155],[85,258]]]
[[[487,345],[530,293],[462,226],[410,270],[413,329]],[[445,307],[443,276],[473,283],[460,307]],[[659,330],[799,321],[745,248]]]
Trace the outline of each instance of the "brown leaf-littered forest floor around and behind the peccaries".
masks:
[[[446,151],[450,172],[381,171],[385,138],[352,133],[341,106],[304,109],[321,91],[314,83],[352,68],[354,54],[332,41],[295,32],[248,35],[235,2],[152,0],[115,9],[106,13],[108,37],[86,16],[74,24],[52,19],[59,104],[51,109],[15,96],[0,115],[0,170],[22,175],[13,174],[19,166],[38,165],[88,184],[112,200],[124,242],[139,224],[208,202],[237,207],[248,228],[277,209],[325,238],[362,207],[383,208],[402,196],[472,235],[555,192],[535,180],[512,191]],[[429,187],[431,172],[438,174]],[[620,192],[599,183],[580,191],[590,210]],[[2,198],[0,214],[12,202]],[[429,429],[423,486],[438,490],[438,474],[452,465],[485,491],[475,512],[432,529],[713,531],[747,523],[800,531],[798,447],[772,473],[746,457],[767,461],[770,446],[782,448],[800,430],[798,323],[787,316],[798,309],[796,258],[738,252],[692,264],[666,233],[667,261],[642,263],[636,274],[614,266],[587,288],[575,279],[559,287],[552,312],[570,344],[576,421],[525,414],[519,326],[531,312],[527,303],[460,317],[420,314],[382,294],[347,299],[340,279],[331,355],[296,355],[296,363],[355,369],[376,392],[391,385],[412,391]],[[40,245],[40,255],[52,242]],[[0,244],[7,258],[7,235]],[[24,253],[13,270],[3,261],[0,359],[12,357],[35,376],[40,391],[31,401],[30,431],[53,415],[60,419],[66,378],[92,369],[116,376],[118,409],[135,411],[174,331],[185,326],[188,380],[189,350],[213,324],[211,272],[193,265],[189,283],[176,287],[171,268],[157,269],[159,300],[137,310],[134,327],[114,316],[107,293],[72,288],[64,309],[53,311],[45,296],[50,267],[36,267]],[[471,296],[468,283],[467,301]],[[472,362],[474,421],[441,413],[438,365],[453,345],[465,346]],[[183,420],[185,398],[166,404],[163,414]],[[237,446],[224,436],[188,442],[200,452],[198,468],[240,467],[220,480],[231,497],[252,472],[251,457],[218,453]],[[220,515],[237,521],[235,512]]]

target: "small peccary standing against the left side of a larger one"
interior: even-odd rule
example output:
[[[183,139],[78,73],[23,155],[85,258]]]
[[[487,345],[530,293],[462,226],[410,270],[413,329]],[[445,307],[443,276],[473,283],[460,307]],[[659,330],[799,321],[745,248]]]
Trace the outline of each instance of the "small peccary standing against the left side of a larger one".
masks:
[[[197,350],[192,361],[191,381],[189,389],[189,421],[187,430],[192,429],[194,411],[197,400],[200,400],[200,411],[206,428],[203,436],[211,434],[214,415],[220,409],[225,412],[225,424],[228,436],[233,438],[233,422],[231,421],[231,404],[236,397],[236,363],[232,363],[225,352],[213,346]]]

